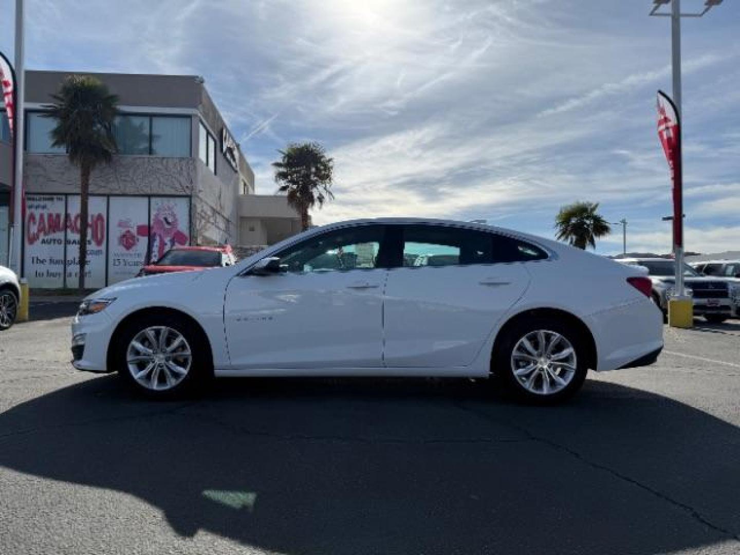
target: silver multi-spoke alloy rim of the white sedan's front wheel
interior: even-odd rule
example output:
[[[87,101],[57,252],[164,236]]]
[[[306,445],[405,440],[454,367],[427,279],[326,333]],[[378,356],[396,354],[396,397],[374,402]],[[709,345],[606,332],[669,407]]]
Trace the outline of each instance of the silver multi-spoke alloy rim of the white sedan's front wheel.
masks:
[[[166,391],[185,379],[192,353],[187,340],[176,329],[151,326],[130,341],[126,362],[136,383],[152,391]]]

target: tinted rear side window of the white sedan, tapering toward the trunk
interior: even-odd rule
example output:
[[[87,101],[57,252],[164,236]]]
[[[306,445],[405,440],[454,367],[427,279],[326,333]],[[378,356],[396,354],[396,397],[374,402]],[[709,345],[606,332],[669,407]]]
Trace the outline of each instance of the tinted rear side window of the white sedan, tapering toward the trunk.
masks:
[[[476,229],[403,227],[403,266],[467,266],[542,260],[547,253],[525,241]]]

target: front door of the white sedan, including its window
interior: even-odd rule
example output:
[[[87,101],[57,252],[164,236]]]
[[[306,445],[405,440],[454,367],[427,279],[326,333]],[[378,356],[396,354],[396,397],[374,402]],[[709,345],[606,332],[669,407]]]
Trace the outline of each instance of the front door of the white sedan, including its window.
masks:
[[[224,320],[235,369],[383,366],[384,226],[314,235],[275,256],[275,275],[241,275]]]

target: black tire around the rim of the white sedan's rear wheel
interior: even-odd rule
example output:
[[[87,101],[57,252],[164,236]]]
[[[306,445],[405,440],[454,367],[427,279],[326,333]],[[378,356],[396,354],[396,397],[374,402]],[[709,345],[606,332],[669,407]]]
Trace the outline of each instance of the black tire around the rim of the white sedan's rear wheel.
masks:
[[[534,393],[528,390],[514,374],[512,354],[522,340],[532,332],[547,330],[560,334],[568,340],[575,352],[575,370],[568,385],[559,391],[549,394]],[[589,349],[582,332],[568,322],[554,317],[531,317],[519,320],[513,326],[505,329],[504,335],[497,340],[496,348],[491,357],[491,371],[497,377],[497,383],[505,387],[506,391],[517,400],[534,405],[553,405],[568,400],[582,386],[588,372]]]

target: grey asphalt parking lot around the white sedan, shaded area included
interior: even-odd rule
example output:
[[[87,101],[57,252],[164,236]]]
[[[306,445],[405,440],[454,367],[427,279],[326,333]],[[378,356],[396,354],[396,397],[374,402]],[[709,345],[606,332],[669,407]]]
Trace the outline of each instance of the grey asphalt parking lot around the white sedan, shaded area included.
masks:
[[[151,403],[0,334],[2,554],[737,554],[740,321],[519,406],[465,380],[223,380]]]

